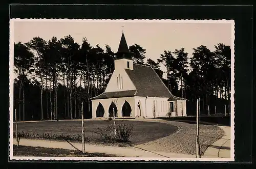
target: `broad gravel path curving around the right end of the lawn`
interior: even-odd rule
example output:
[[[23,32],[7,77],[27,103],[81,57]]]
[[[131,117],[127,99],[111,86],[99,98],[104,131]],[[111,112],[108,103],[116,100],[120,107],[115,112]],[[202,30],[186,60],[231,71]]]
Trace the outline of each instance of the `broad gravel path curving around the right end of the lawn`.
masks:
[[[196,124],[166,120],[142,119],[142,121],[167,123],[173,126],[177,126],[179,129],[176,133],[170,134],[169,136],[162,137],[145,144],[135,145],[135,147],[148,151],[182,153],[191,155],[196,154]],[[220,139],[223,134],[224,131],[217,126],[201,124],[199,130],[199,144],[201,154],[205,152],[209,145]]]

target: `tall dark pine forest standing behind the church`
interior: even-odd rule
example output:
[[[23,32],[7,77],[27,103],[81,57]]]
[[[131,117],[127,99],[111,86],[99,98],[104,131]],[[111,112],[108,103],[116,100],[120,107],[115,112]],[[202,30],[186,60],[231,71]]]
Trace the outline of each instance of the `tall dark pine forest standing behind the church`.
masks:
[[[129,50],[134,63],[152,66],[173,95],[188,99],[188,116],[196,114],[198,98],[201,114],[207,115],[208,108],[210,114],[230,112],[230,46],[219,43],[210,51],[201,45],[193,49],[191,58],[184,48],[166,49],[157,61],[146,58],[146,49],[139,44]],[[79,45],[70,35],[14,43],[17,119],[78,119],[82,102],[85,118],[91,118],[90,98],[104,92],[114,71],[114,57],[111,46],[93,47],[86,38]]]

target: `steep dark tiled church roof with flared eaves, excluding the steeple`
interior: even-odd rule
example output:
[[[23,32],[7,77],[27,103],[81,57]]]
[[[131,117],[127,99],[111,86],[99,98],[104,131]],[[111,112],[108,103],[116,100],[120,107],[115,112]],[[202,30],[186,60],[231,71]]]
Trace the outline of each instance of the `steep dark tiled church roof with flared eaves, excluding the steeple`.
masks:
[[[94,99],[106,99],[117,97],[131,97],[131,96],[148,96],[148,97],[168,97],[168,101],[172,100],[187,100],[174,96],[169,92],[163,81],[157,75],[152,67],[144,65],[133,65],[134,70],[125,69],[130,77],[136,90],[107,92],[96,96]]]

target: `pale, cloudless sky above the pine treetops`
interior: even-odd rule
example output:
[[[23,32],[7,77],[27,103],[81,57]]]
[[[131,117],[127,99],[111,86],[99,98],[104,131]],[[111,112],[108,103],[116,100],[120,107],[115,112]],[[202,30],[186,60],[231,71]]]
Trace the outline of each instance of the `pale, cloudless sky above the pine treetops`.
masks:
[[[188,57],[191,57],[193,48],[200,45],[207,46],[211,51],[218,43],[231,45],[231,29],[231,23],[224,22],[23,20],[14,22],[14,42],[27,43],[37,36],[48,41],[53,36],[60,39],[71,35],[78,44],[86,37],[93,47],[99,44],[105,49],[105,44],[108,44],[116,52],[123,31],[128,46],[135,43],[142,46],[146,49],[146,59],[156,61],[164,50],[174,51],[184,47]]]

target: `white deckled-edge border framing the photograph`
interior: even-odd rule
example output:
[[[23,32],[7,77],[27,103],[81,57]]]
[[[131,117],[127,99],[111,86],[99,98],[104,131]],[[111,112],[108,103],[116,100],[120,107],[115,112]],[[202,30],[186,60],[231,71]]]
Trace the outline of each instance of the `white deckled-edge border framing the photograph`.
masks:
[[[14,43],[14,22],[15,21],[48,21],[48,22],[57,22],[57,21],[74,21],[74,22],[168,22],[168,23],[231,23],[231,98],[230,101],[230,158],[115,158],[113,157],[13,157],[13,74],[14,74],[14,63],[13,63],[13,44]],[[9,162],[19,162],[24,160],[36,160],[38,162],[44,161],[234,161],[234,38],[235,38],[235,27],[234,20],[212,20],[212,19],[20,19],[14,18],[10,19],[10,42],[9,42]],[[84,161],[85,162],[85,161]]]

